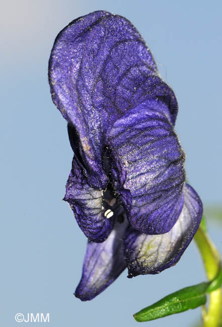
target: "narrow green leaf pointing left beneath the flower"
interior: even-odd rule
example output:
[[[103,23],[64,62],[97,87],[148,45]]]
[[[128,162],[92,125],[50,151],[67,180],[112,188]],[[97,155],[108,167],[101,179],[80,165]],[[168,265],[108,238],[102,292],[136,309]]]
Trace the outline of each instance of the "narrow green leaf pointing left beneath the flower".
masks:
[[[206,289],[208,286],[209,283],[207,282],[183,288],[147,306],[133,316],[136,321],[149,321],[195,309],[206,303]]]

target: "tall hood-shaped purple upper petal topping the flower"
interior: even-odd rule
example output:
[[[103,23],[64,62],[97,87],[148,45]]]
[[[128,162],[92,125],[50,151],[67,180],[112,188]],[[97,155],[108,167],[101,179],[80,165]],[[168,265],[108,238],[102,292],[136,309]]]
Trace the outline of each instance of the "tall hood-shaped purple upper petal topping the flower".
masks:
[[[102,188],[107,128],[128,109],[160,98],[175,122],[177,101],[160,78],[150,50],[123,17],[98,11],[71,22],[57,36],[49,60],[52,100],[76,128],[88,181]]]

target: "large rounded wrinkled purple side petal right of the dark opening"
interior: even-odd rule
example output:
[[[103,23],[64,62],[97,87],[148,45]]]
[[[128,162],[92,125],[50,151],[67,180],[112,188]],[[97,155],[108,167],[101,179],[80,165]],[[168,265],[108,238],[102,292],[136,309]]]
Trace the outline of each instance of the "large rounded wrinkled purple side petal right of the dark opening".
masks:
[[[183,207],[185,155],[168,107],[149,100],[117,120],[108,134],[111,175],[131,226],[168,232]]]

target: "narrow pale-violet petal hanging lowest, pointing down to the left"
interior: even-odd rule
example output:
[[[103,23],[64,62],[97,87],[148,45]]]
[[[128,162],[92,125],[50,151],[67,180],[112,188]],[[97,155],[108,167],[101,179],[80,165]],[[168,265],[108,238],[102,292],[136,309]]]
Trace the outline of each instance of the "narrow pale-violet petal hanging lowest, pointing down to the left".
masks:
[[[102,243],[88,242],[83,274],[75,295],[82,301],[92,300],[105,290],[126,268],[123,237],[127,221],[115,223],[109,237]]]

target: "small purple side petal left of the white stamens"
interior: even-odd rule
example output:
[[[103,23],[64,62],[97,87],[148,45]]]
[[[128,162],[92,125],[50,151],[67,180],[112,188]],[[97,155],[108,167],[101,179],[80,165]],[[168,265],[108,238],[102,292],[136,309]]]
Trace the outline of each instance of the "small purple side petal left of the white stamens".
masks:
[[[113,219],[104,216],[102,195],[103,191],[88,184],[77,158],[74,157],[63,200],[68,202],[85,235],[96,242],[104,241],[113,227]]]

